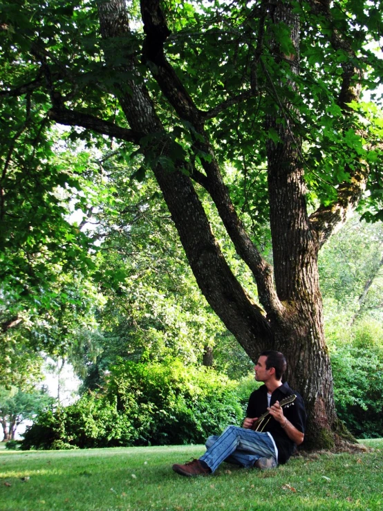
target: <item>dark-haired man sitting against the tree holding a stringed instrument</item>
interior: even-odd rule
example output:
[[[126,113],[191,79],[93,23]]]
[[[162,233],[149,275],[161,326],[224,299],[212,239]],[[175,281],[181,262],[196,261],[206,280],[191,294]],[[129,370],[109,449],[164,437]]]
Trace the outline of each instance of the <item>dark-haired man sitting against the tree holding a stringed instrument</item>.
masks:
[[[263,351],[254,370],[256,381],[264,385],[252,392],[243,427],[229,426],[221,436],[209,436],[205,454],[185,465],[173,465],[175,472],[189,477],[212,474],[223,461],[261,470],[274,468],[286,463],[303,442],[306,411],[299,393],[281,381],[286,371],[283,354]],[[279,402],[289,396],[290,406],[283,407],[283,402],[281,406]],[[265,412],[269,414],[261,424],[254,424]],[[253,426],[258,430],[253,431]]]

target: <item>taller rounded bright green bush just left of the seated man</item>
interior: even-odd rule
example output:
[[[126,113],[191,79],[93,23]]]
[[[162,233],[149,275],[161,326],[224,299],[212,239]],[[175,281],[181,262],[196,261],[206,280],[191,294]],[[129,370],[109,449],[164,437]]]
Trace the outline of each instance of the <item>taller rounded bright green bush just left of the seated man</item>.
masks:
[[[242,419],[236,383],[205,367],[126,362],[113,368],[109,398],[131,420],[133,445],[201,443]]]

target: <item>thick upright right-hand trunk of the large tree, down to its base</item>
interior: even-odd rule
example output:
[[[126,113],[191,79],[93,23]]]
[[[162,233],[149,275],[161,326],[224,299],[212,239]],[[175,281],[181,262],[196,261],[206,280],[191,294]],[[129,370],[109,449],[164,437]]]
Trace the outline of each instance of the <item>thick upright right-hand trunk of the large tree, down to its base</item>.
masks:
[[[282,57],[288,62],[293,77],[299,69],[299,19],[292,6],[282,2],[276,3],[272,16],[274,23],[290,27],[295,53],[281,55],[279,45],[272,41],[272,54],[276,62]],[[292,77],[284,87],[295,91]],[[306,447],[330,447],[337,416],[319,290],[319,237],[307,214],[301,140],[295,134],[294,108],[284,97],[279,96],[278,100],[279,109],[269,116],[266,127],[279,135],[278,142],[268,141],[267,154],[275,286],[283,314],[270,315],[270,323],[274,348],[288,359],[286,378],[306,403],[310,418]]]

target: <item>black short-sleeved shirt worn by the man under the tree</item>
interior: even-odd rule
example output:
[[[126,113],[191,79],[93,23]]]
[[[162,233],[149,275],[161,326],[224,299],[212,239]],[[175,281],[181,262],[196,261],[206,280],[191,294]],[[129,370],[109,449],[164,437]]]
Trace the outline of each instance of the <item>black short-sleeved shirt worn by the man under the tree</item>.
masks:
[[[293,426],[295,426],[302,433],[305,432],[306,427],[306,410],[303,403],[303,399],[300,394],[293,391],[289,385],[285,382],[281,387],[274,390],[270,400],[270,406],[274,405],[274,402],[283,400],[288,396],[295,394],[297,398],[290,404],[290,406],[283,407],[283,415],[289,420]],[[268,389],[265,385],[256,389],[252,392],[247,405],[246,417],[254,418],[260,417],[268,409]],[[279,424],[274,417],[271,417],[268,423],[265,425],[265,429],[262,431],[268,431],[274,438],[275,445],[278,449],[278,463],[286,463],[288,458],[292,455],[295,449],[295,443],[288,438],[286,431]]]

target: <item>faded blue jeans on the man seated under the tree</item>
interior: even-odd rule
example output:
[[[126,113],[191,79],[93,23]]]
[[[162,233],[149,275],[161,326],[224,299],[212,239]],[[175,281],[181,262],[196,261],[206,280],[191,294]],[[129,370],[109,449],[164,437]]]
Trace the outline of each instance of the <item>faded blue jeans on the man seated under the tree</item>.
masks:
[[[250,468],[259,458],[274,458],[277,463],[274,443],[267,433],[243,427],[228,426],[220,436],[209,436],[207,451],[201,461],[214,472],[223,461]]]

